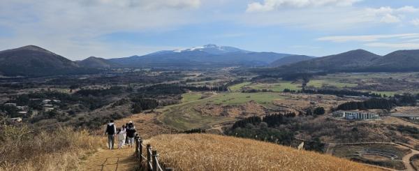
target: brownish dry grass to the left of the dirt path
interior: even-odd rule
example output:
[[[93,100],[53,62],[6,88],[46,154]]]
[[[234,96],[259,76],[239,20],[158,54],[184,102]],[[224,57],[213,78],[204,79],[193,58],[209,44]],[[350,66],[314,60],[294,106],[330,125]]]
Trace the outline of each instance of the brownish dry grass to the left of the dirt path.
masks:
[[[82,158],[103,143],[71,128],[35,134],[24,126],[3,126],[0,131],[0,170],[79,170]]]

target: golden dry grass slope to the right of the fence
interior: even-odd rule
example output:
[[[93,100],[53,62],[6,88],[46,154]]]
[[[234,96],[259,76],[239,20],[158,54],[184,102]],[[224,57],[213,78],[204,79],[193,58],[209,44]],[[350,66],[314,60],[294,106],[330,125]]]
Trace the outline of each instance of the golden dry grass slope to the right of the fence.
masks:
[[[311,151],[221,135],[158,135],[146,143],[175,170],[379,170]]]

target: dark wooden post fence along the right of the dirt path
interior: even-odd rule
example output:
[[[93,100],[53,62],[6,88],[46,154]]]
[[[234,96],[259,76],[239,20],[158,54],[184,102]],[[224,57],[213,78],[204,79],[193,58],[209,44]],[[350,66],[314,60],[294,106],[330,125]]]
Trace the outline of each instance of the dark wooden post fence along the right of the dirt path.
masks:
[[[145,154],[142,153],[143,149],[145,150]],[[161,167],[161,164],[159,163],[159,154],[157,153],[157,150],[153,150],[151,144],[147,144],[146,146],[144,146],[144,144],[142,144],[142,139],[138,136],[135,137],[135,156],[137,156],[138,160],[140,161],[140,168],[143,168],[145,166],[148,171],[173,170],[172,168]]]

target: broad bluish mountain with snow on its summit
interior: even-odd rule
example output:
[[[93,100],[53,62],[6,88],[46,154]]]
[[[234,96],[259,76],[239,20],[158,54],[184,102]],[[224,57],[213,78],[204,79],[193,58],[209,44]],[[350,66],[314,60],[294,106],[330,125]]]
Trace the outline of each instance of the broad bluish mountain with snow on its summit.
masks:
[[[290,55],[251,52],[237,47],[208,44],[186,50],[162,50],[143,56],[135,55],[109,60],[128,67],[266,66],[272,61]]]

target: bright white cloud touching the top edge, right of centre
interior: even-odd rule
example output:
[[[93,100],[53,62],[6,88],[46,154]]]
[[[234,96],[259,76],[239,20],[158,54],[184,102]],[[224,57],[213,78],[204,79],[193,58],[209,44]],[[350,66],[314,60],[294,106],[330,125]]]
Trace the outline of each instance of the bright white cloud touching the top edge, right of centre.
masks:
[[[320,6],[352,6],[362,0],[265,0],[247,5],[247,12],[265,12],[283,7],[302,8]]]

